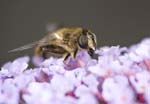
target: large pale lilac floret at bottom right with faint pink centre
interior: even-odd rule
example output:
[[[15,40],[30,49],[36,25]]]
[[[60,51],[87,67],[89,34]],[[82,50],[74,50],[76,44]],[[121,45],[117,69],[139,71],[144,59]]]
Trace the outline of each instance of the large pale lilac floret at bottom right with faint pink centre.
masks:
[[[111,104],[133,104],[134,92],[125,76],[107,78],[103,83],[102,95]]]

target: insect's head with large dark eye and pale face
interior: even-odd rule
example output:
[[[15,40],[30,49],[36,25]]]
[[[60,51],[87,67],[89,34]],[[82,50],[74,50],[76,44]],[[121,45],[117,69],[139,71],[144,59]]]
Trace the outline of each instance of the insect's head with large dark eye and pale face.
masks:
[[[90,30],[83,29],[82,34],[78,39],[78,44],[82,49],[87,49],[89,55],[93,57],[96,50],[96,36]]]

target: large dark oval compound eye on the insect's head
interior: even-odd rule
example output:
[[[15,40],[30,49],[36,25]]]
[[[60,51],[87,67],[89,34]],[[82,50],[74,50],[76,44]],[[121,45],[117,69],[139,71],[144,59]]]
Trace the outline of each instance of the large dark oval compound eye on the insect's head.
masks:
[[[86,49],[88,47],[88,38],[86,35],[81,35],[78,39],[78,44],[81,48]]]

